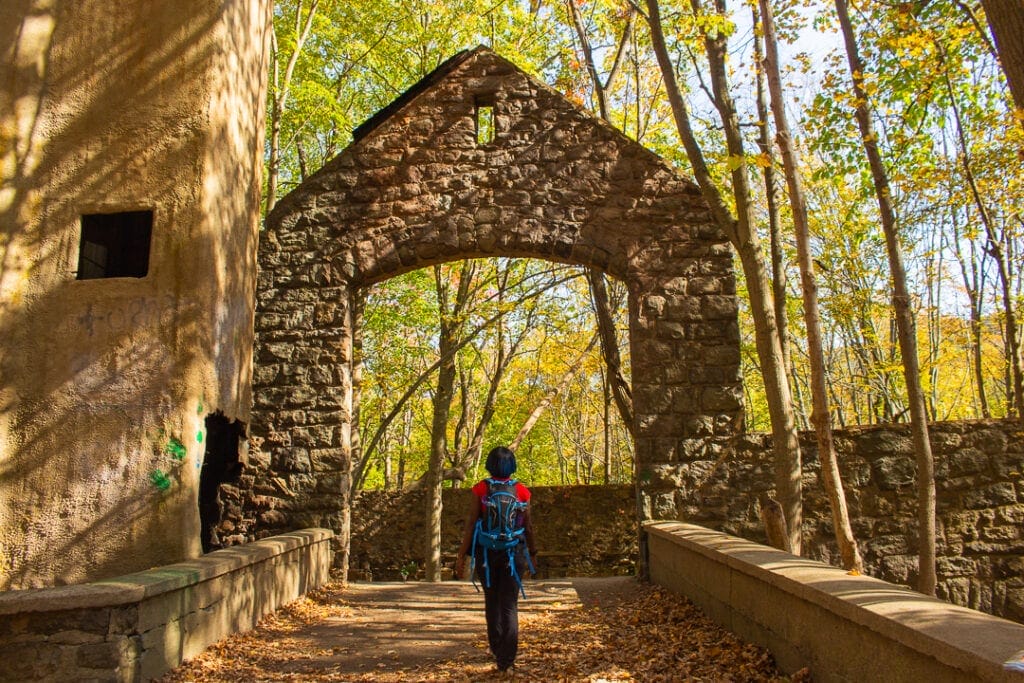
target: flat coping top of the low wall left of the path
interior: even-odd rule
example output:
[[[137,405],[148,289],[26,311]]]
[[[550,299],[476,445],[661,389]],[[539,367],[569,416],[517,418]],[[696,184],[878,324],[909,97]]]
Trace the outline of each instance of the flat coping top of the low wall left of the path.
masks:
[[[0,592],[0,614],[113,607],[141,602],[331,539],[326,528],[281,533],[216,550],[194,560],[76,586]]]

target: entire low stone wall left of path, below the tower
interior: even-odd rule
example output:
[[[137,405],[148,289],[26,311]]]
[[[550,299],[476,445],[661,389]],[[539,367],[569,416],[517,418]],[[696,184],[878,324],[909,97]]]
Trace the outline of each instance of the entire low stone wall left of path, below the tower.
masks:
[[[304,529],[109,581],[0,593],[0,681],[148,681],[327,582]]]

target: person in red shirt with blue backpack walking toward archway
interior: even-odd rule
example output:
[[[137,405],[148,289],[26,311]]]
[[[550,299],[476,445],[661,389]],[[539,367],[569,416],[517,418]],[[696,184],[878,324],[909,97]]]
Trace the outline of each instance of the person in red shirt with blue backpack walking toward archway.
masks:
[[[529,514],[529,488],[512,478],[515,454],[504,446],[493,449],[484,465],[490,476],[473,486],[473,500],[456,560],[455,574],[463,578],[466,556],[474,559],[473,570],[483,585],[487,644],[499,672],[515,671],[519,650],[519,593],[521,577],[528,568],[536,573],[530,558],[537,557],[534,526]],[[507,542],[483,537],[499,536],[496,526],[507,526],[500,536]],[[484,545],[486,544],[486,545]],[[509,546],[509,547],[505,547]],[[528,553],[528,554],[527,554]]]

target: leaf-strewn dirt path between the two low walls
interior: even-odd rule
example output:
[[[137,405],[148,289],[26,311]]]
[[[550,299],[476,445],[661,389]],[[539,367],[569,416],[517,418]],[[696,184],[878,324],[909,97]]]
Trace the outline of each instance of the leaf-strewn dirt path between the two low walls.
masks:
[[[526,594],[517,680],[786,680],[762,650],[633,579],[529,582]],[[163,680],[492,680],[482,605],[468,582],[330,585]]]

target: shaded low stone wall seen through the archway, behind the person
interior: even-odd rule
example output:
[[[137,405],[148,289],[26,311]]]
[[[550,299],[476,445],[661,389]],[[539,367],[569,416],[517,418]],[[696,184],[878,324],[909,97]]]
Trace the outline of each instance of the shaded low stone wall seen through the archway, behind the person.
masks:
[[[530,493],[541,577],[634,573],[638,527],[632,485],[530,486]],[[352,511],[351,578],[397,581],[403,568],[411,578],[422,573],[424,496],[422,489],[359,493]],[[459,551],[470,501],[468,488],[443,492],[441,559],[449,568]]]

